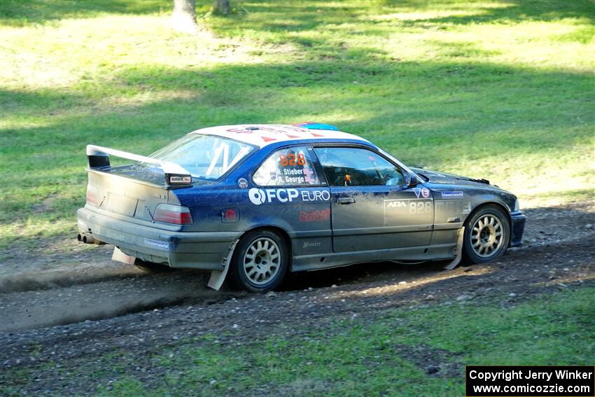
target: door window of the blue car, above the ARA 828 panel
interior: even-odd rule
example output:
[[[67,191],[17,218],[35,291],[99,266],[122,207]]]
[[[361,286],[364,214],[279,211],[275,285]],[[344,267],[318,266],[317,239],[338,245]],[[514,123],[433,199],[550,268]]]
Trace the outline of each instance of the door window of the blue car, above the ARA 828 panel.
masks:
[[[314,148],[330,186],[404,185],[399,167],[363,148]]]

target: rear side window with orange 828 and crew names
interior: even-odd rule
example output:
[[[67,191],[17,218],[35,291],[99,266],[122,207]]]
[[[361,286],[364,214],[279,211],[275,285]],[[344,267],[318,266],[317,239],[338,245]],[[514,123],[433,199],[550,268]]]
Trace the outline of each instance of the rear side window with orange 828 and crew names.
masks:
[[[260,165],[252,180],[258,186],[320,185],[311,153],[306,146],[276,151]]]

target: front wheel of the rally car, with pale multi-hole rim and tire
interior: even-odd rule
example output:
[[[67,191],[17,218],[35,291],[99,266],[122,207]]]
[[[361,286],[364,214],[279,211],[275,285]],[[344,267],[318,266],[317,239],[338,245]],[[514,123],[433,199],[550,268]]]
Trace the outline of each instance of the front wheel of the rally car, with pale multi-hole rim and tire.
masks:
[[[465,221],[463,255],[472,263],[487,263],[503,256],[509,242],[508,216],[496,205],[479,207]]]

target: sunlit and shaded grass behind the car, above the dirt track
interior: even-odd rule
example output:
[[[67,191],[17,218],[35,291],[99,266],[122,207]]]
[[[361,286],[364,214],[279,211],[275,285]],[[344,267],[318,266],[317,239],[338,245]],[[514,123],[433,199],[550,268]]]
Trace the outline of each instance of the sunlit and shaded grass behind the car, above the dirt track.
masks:
[[[170,3],[0,2],[1,246],[73,235],[86,144],[233,123],[333,123],[521,204],[593,197],[591,1],[235,1],[199,36]]]

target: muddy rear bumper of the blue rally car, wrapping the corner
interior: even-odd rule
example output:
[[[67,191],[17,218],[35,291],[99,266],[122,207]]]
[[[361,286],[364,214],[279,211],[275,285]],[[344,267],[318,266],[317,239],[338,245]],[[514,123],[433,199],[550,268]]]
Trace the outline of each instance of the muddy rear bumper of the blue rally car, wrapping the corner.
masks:
[[[78,230],[117,246],[127,255],[170,267],[223,270],[223,258],[240,232],[174,232],[118,214],[78,209]]]

